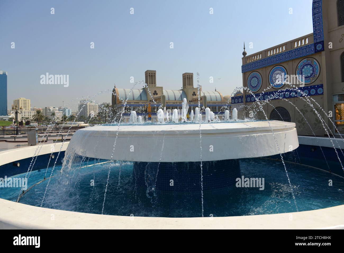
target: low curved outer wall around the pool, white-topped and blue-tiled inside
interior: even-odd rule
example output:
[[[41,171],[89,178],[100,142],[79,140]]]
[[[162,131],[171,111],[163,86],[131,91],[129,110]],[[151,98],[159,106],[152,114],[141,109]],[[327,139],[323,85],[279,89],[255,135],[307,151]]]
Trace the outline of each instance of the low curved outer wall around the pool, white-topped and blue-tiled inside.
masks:
[[[308,141],[302,140],[299,136],[301,146],[310,149],[316,146],[313,139]],[[63,158],[64,151],[68,146],[65,142],[61,148],[60,156]],[[321,139],[320,144],[323,148],[328,146],[326,140]],[[62,143],[57,143],[54,154],[58,153]],[[319,147],[319,146],[318,146]],[[0,152],[0,171],[5,167],[9,169],[11,174],[17,172],[26,172],[28,166],[24,163],[29,163],[34,156],[37,146],[17,148],[14,150]],[[333,156],[333,148],[329,148],[329,154]],[[338,146],[337,148],[342,148]],[[291,154],[297,155],[299,149],[286,153],[287,157]],[[305,152],[307,154],[308,152]],[[332,153],[331,153],[332,152]],[[36,168],[46,168],[48,160],[46,155],[50,155],[51,145],[43,145],[40,155],[37,157]],[[314,153],[314,152],[313,152]],[[299,152],[299,155],[303,154]],[[316,154],[316,153],[314,153]],[[55,156],[56,157],[56,156]],[[303,157],[301,156],[301,161]],[[318,157],[321,160],[320,157]],[[39,162],[41,161],[41,162]],[[305,160],[306,161],[306,160]],[[13,162],[21,162],[22,170],[15,170]],[[337,162],[338,165],[338,162]],[[12,166],[12,167],[11,167]],[[316,167],[316,166],[314,166]],[[12,168],[12,171],[11,169]],[[103,229],[132,229],[132,228],[164,228],[164,229],[183,229],[183,228],[250,228],[250,229],[343,229],[344,228],[344,205],[331,208],[319,209],[314,211],[293,212],[293,213],[279,213],[266,214],[255,216],[241,216],[241,217],[213,217],[209,218],[153,218],[153,217],[127,217],[127,216],[109,216],[91,213],[78,213],[63,210],[54,210],[48,208],[40,208],[35,206],[24,205],[4,199],[0,199],[0,229],[87,229],[87,228],[103,228]],[[51,219],[54,214],[55,219]],[[290,217],[293,220],[290,220]],[[135,222],[133,222],[135,221]],[[178,227],[176,227],[178,224]]]

